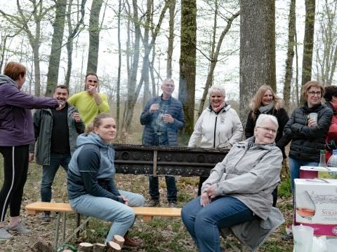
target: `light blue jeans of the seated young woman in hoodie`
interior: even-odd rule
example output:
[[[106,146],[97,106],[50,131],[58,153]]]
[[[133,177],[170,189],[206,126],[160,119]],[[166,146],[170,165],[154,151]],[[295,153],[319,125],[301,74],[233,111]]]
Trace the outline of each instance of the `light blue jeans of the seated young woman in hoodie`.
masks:
[[[79,214],[93,216],[100,220],[111,221],[112,225],[107,234],[106,241],[112,241],[114,235],[124,237],[129,228],[135,221],[135,212],[131,207],[142,207],[145,204],[145,198],[138,193],[119,190],[121,195],[128,198],[129,204],[123,204],[116,200],[106,197],[95,197],[93,195],[81,195],[69,200],[72,209]]]

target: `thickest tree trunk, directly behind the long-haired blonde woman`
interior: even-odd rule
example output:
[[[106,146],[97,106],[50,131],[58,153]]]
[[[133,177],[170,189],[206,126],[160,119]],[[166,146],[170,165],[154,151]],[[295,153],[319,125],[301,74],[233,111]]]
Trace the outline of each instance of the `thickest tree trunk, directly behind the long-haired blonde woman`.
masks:
[[[267,84],[276,91],[275,0],[242,0],[240,5],[240,119],[246,125],[258,87]]]

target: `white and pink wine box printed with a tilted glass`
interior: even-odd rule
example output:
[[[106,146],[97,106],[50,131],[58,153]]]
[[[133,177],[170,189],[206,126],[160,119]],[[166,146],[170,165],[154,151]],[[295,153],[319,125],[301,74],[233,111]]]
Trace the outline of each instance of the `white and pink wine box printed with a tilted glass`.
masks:
[[[337,179],[295,179],[296,224],[337,236]]]

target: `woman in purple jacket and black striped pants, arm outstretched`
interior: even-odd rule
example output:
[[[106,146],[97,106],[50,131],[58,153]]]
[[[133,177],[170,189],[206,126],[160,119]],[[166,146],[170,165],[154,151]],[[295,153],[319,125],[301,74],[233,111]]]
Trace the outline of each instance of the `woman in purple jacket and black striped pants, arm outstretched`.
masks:
[[[20,221],[23,188],[27,179],[29,144],[34,144],[30,109],[58,107],[54,98],[34,97],[20,91],[26,80],[26,68],[8,62],[0,75],[0,153],[4,157],[4,184],[0,191],[0,239],[11,239],[9,232],[29,233]],[[10,225],[5,225],[7,208]]]

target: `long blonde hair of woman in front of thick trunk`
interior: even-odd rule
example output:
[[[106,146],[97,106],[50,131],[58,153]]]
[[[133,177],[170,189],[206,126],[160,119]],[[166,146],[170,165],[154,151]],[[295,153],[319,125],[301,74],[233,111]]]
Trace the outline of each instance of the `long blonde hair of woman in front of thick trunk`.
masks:
[[[277,96],[277,94],[275,94],[270,85],[261,85],[258,91],[256,91],[253,99],[251,99],[251,103],[249,104],[249,107],[253,111],[253,113],[251,113],[251,117],[253,119],[256,118],[256,111],[258,111],[258,109],[260,108],[263,96],[265,95],[265,92],[267,90],[270,90],[270,92],[272,92],[272,102],[274,102],[275,110],[282,109],[284,106],[283,99],[281,99],[280,97]]]

